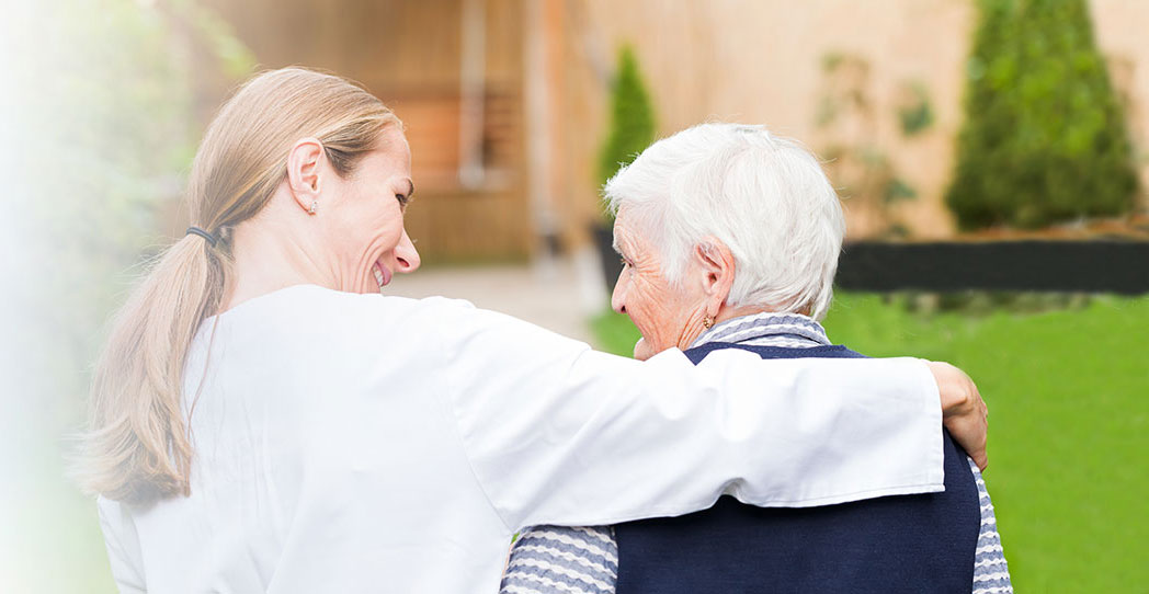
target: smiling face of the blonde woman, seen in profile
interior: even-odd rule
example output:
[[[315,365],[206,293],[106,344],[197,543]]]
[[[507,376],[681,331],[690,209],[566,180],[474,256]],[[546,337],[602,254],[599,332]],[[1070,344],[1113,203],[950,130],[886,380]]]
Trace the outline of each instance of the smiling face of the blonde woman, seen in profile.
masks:
[[[326,185],[319,198],[322,213],[314,219],[323,225],[324,242],[334,253],[340,291],[379,292],[394,273],[419,267],[418,252],[403,229],[415,186],[411,151],[402,131],[388,128],[379,148],[346,178],[334,171],[322,178]]]

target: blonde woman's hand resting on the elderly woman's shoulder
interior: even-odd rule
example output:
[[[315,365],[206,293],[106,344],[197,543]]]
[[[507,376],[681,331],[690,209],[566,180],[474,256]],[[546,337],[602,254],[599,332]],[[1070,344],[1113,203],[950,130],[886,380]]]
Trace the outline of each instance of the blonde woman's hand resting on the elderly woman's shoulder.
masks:
[[[989,431],[989,410],[981,400],[978,386],[970,376],[949,363],[926,362],[941,394],[942,424],[949,434],[973,458],[979,469],[986,470],[986,435]]]

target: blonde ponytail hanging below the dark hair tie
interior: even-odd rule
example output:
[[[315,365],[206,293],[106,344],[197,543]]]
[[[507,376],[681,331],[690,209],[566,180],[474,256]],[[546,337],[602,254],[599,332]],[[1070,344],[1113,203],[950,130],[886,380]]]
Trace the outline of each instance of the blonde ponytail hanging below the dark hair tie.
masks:
[[[228,276],[211,249],[195,236],[177,241],[117,313],[92,381],[88,489],[115,500],[188,493],[183,363]]]

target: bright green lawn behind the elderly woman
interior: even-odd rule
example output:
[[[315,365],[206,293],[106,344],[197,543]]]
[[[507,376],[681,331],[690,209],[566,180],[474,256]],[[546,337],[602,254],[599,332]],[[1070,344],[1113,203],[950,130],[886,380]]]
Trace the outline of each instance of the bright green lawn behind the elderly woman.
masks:
[[[603,348],[630,354],[630,321],[593,325]],[[948,361],[978,383],[986,481],[1020,592],[1147,592],[1149,298],[971,317],[840,293],[826,330],[867,355]]]

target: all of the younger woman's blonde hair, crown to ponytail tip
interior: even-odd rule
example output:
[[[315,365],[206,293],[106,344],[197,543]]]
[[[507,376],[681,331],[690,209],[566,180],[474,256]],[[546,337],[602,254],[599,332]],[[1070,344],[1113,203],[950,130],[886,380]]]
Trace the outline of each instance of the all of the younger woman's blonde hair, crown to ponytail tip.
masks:
[[[230,288],[231,230],[267,205],[300,138],[319,139],[346,176],[391,125],[401,124],[367,91],[301,68],[256,76],[224,105],[188,183],[193,224],[216,241],[196,234],[176,241],[113,321],[80,453],[86,491],[118,501],[191,493],[183,368],[200,325],[218,313]]]

